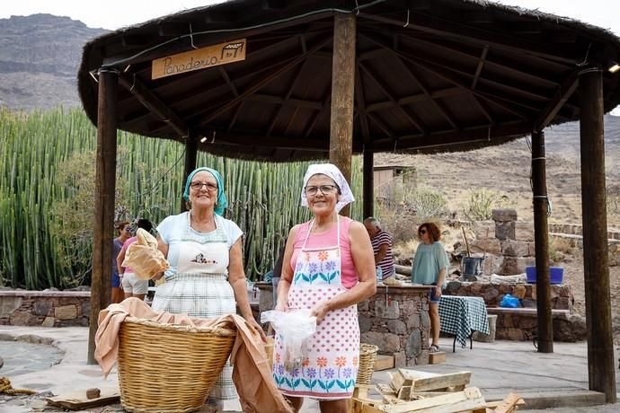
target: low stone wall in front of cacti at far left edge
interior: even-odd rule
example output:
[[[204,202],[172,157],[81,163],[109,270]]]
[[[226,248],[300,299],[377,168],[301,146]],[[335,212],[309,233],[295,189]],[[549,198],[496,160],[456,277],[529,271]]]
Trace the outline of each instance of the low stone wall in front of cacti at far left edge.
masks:
[[[90,291],[0,291],[0,325],[88,326]]]

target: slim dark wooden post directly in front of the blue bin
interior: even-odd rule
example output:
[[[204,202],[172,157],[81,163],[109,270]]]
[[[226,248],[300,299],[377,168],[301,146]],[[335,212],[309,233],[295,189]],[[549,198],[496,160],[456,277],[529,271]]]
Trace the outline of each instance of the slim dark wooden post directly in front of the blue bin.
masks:
[[[547,227],[547,181],[545,133],[532,133],[532,184],[534,193],[534,241],[536,247],[536,310],[538,352],[554,352],[554,320],[551,315],[549,279],[549,230]]]

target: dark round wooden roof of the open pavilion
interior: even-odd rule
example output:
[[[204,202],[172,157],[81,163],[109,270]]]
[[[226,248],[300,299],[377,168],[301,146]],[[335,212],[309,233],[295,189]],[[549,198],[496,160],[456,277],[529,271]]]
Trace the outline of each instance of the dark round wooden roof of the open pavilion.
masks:
[[[78,73],[84,110],[96,123],[92,73],[104,66],[120,70],[125,86],[120,129],[181,142],[206,136],[199,150],[246,159],[327,157],[333,15],[341,11],[358,17],[356,153],[473,149],[579,119],[580,69],[620,61],[620,39],[609,31],[483,1],[230,1],[87,43]],[[154,58],[241,38],[244,61],[151,80]],[[603,78],[608,111],[620,84],[607,70]]]

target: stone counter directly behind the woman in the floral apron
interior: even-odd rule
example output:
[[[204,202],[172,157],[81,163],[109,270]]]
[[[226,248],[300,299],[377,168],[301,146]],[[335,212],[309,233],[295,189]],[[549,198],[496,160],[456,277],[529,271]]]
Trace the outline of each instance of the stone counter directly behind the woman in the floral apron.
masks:
[[[259,311],[273,309],[271,284],[254,286],[261,291]],[[428,364],[429,293],[425,286],[377,286],[374,296],[358,304],[361,341],[394,356],[396,367]]]

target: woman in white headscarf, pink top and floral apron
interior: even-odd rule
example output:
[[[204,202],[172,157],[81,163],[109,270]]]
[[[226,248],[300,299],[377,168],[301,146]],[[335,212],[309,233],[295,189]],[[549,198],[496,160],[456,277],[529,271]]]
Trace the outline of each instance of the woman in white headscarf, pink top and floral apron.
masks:
[[[284,363],[279,337],[273,376],[280,391],[300,409],[304,397],[321,411],[346,412],[359,365],[357,303],[376,292],[375,259],[363,224],[341,216],[354,200],[341,171],[330,163],[308,167],[301,204],[313,219],[288,234],[276,310],[311,309],[316,333],[301,368]]]

